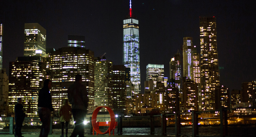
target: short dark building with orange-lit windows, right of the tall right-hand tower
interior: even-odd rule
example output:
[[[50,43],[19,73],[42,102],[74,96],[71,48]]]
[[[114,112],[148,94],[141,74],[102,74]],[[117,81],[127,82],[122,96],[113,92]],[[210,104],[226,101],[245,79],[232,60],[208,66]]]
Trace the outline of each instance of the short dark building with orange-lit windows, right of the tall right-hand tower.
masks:
[[[223,107],[230,108],[229,89],[225,86],[219,86],[215,89],[215,110]]]

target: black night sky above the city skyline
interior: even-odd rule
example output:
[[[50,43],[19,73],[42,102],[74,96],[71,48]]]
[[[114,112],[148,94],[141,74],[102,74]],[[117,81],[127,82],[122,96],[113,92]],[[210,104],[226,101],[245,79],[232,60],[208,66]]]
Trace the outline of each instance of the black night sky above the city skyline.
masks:
[[[122,20],[130,0],[0,0],[4,25],[3,67],[23,56],[24,23],[46,29],[46,48],[67,47],[68,35],[85,36],[86,49],[95,56],[122,64]],[[164,64],[192,37],[200,53],[199,17],[215,16],[221,85],[241,89],[256,79],[256,11],[253,1],[242,0],[132,0],[139,20],[141,91],[147,64]],[[180,50],[181,52],[181,50]],[[9,74],[8,74],[9,75]]]

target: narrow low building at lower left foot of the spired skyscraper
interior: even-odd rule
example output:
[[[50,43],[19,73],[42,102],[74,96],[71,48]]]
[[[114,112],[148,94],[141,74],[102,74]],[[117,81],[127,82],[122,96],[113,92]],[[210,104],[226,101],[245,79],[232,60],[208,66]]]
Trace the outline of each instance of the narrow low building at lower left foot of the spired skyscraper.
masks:
[[[135,112],[135,100],[134,100],[134,86],[131,81],[125,81],[126,83],[126,114]]]

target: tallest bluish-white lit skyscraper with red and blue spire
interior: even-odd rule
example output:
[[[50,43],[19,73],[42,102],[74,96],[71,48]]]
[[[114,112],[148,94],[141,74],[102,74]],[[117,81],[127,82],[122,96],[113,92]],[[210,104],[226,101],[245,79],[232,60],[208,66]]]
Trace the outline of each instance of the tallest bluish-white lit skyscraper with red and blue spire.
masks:
[[[129,15],[123,20],[123,65],[129,67],[134,92],[141,92],[141,70],[139,61],[139,20],[132,13],[130,0]]]

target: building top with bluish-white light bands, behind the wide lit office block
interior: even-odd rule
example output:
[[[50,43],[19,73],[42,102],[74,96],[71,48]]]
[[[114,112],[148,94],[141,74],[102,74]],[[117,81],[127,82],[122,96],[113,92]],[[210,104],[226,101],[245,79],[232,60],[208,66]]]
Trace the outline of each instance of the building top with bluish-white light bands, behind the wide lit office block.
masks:
[[[68,46],[69,47],[85,47],[85,37],[69,35],[68,36]]]

